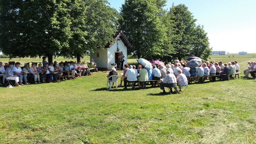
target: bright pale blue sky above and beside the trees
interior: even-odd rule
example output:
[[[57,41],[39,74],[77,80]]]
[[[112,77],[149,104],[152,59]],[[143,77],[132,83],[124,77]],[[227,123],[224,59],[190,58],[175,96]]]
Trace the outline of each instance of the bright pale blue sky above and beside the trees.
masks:
[[[167,0],[166,9],[185,4],[204,25],[213,50],[256,53],[256,0]],[[108,0],[120,11],[124,0]]]

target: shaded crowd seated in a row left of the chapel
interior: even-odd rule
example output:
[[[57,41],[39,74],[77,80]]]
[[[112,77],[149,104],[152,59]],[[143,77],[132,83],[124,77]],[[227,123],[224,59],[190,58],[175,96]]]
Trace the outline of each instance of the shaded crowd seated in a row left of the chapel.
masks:
[[[31,66],[28,63],[20,67],[20,62],[14,64],[6,63],[3,66],[3,63],[0,62],[0,85],[3,85],[6,80],[15,80],[16,86],[23,86],[31,82],[34,84],[59,82],[92,75],[86,61],[83,63],[81,61],[59,63],[55,61],[48,63],[46,57],[42,59],[42,63],[39,63],[38,66],[37,63],[32,63]],[[95,64],[94,68],[98,71]]]

